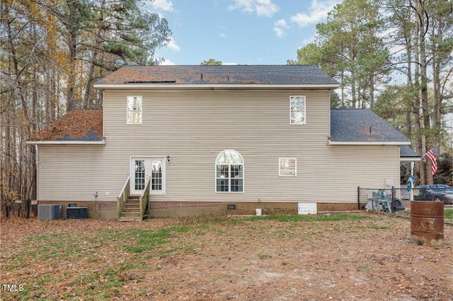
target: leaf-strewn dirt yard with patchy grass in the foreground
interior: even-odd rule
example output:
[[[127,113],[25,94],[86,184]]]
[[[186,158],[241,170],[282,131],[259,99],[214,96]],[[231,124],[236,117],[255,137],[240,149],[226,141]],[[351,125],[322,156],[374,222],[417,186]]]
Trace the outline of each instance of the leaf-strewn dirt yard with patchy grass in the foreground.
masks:
[[[1,220],[1,300],[453,300],[453,226],[324,217]]]

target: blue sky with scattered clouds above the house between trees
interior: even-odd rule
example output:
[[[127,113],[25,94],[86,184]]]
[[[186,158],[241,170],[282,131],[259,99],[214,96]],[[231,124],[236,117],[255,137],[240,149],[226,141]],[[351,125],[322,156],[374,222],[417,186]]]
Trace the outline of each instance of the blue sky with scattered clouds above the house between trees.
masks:
[[[314,41],[316,24],[340,0],[155,0],[149,11],[168,20],[171,41],[156,50],[162,64],[286,64]]]

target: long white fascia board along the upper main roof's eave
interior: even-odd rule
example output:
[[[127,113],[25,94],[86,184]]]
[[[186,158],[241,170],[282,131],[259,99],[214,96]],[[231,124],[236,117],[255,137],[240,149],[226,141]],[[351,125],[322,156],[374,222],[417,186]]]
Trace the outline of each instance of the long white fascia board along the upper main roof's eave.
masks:
[[[339,84],[302,84],[302,85],[278,85],[278,84],[160,84],[160,83],[123,83],[119,85],[98,84],[94,88],[98,90],[110,89],[150,89],[150,90],[179,90],[179,89],[336,89]]]

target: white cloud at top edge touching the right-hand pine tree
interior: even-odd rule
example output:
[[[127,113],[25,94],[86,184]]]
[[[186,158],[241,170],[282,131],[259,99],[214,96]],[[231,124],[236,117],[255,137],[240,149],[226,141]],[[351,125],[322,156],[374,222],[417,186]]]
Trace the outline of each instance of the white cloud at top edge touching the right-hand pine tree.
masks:
[[[311,24],[321,23],[327,18],[327,13],[332,11],[336,4],[341,1],[338,0],[327,0],[327,1],[311,1],[309,13],[297,13],[290,18],[294,23],[297,23],[299,27],[303,28]]]

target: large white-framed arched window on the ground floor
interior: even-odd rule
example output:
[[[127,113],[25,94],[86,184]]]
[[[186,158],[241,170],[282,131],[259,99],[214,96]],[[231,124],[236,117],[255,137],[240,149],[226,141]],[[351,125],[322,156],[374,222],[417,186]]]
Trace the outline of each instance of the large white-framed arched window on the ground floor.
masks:
[[[234,150],[225,150],[215,160],[215,191],[243,192],[243,159]]]

